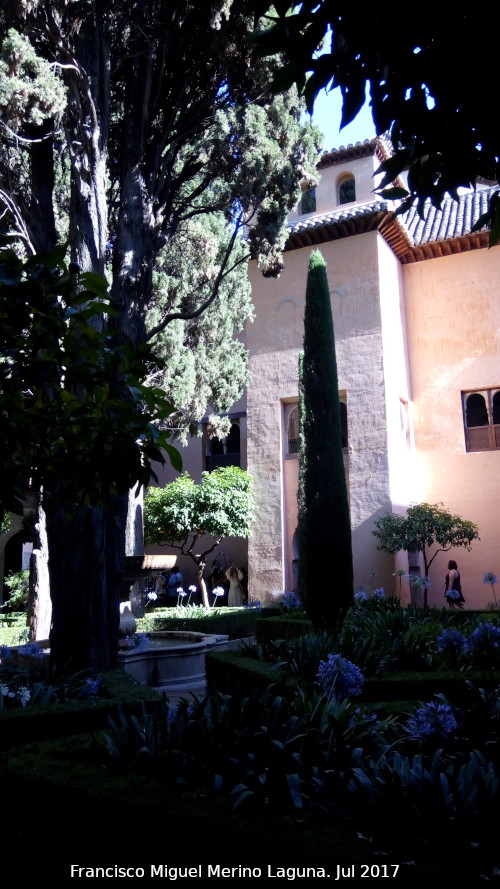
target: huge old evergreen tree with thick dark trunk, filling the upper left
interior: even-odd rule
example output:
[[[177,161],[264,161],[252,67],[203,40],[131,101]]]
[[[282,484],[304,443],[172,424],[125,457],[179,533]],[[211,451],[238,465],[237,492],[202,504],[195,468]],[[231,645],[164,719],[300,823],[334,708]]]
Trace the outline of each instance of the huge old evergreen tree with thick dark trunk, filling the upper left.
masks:
[[[28,256],[67,232],[71,260],[109,281],[109,311],[93,321],[112,352],[128,344],[144,354],[154,340],[168,365],[162,335],[188,322],[172,334],[176,372],[162,380],[182,396],[184,430],[202,398],[223,409],[245,380],[244,350],[231,349],[228,384],[223,343],[215,342],[222,328],[224,338],[235,328],[222,306],[238,289],[239,234],[247,231],[247,254],[264,274],[279,273],[287,211],[301,182],[316,180],[318,134],[303,124],[295,88],[271,95],[279,60],[252,60],[246,38],[256,24],[253,0],[0,4],[2,230]],[[210,214],[225,227],[216,259],[196,225]],[[189,286],[193,266],[199,276]],[[209,306],[212,326],[201,335],[194,325]],[[152,307],[158,315],[148,322]],[[183,367],[191,345],[196,355]],[[109,391],[121,397],[118,365]],[[78,401],[78,380],[67,395]],[[116,658],[127,508],[126,493],[88,505],[75,496],[68,515],[58,486],[44,491],[58,665],[103,669]]]

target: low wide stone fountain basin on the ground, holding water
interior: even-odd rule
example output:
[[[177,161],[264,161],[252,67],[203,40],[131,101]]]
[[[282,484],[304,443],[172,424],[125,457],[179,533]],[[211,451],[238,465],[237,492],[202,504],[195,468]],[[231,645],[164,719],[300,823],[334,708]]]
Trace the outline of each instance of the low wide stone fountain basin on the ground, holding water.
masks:
[[[144,651],[120,653],[119,665],[138,682],[159,691],[182,691],[205,685],[205,656],[225,646],[229,637],[165,630],[148,633]]]

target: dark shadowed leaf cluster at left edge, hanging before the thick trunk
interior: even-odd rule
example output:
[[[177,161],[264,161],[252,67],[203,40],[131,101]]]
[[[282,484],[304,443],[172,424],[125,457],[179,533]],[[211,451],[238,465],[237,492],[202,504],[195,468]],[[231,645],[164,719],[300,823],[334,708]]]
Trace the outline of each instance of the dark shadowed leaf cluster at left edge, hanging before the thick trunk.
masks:
[[[22,512],[26,488],[63,504],[97,503],[150,480],[171,411],[144,386],[150,349],[105,332],[106,281],[66,267],[65,248],[23,261],[0,252],[0,508]]]

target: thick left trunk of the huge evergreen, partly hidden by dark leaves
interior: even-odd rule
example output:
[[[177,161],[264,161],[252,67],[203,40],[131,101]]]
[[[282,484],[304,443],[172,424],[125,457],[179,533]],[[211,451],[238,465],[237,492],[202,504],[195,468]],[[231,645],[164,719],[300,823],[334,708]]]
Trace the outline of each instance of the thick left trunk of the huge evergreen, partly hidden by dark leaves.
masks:
[[[72,258],[103,274],[108,239],[106,159],[110,109],[109,3],[93,3],[75,38],[68,71]],[[76,62],[76,60],[78,60]],[[45,492],[51,660],[57,672],[103,670],[116,662],[128,497],[63,508]]]

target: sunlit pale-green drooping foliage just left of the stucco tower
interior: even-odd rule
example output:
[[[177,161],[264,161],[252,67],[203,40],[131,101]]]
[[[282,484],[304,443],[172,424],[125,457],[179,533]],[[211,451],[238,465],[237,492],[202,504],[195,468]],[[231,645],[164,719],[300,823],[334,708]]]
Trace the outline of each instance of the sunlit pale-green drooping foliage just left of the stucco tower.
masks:
[[[195,217],[183,223],[155,265],[148,330],[167,314],[172,320],[150,340],[158,364],[148,383],[163,389],[176,406],[164,425],[183,443],[200,434],[207,406],[209,434],[227,435],[227,413],[249,381],[248,352],[238,334],[253,321],[254,310],[241,243],[233,247],[215,299],[199,313],[210,301],[230,238],[222,213]]]

